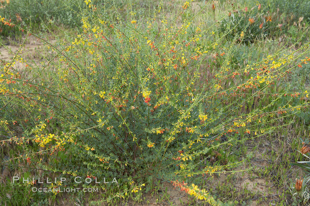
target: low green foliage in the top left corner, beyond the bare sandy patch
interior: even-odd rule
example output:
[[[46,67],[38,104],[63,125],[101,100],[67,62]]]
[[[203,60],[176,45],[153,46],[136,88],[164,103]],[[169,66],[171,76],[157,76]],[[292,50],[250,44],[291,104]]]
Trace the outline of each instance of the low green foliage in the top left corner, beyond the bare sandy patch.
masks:
[[[25,28],[30,26],[40,31],[47,25],[56,24],[65,27],[79,27],[81,25],[81,10],[86,5],[83,0],[43,0],[43,1],[4,1],[1,3],[0,15],[2,18]],[[2,37],[18,37],[22,33],[18,27],[0,27]]]

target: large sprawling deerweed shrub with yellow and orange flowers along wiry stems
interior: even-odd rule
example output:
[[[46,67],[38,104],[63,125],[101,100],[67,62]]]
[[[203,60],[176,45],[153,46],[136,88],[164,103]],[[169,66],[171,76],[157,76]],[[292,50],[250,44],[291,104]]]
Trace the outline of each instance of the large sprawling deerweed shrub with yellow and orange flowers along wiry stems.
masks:
[[[219,35],[217,23],[206,25],[202,11],[209,4],[193,13],[182,2],[176,14],[160,4],[145,19],[131,8],[117,22],[91,0],[85,4],[83,32],[73,39],[51,45],[32,34],[53,58],[35,65],[19,50],[3,65],[1,142],[24,151],[10,154],[6,164],[126,177],[110,199],[136,193],[156,178],[170,180],[217,205],[207,191],[181,181],[229,172],[238,162],[226,158],[214,165],[209,154],[271,133],[308,110],[307,99],[300,98],[307,91],[287,91],[277,83],[308,63],[309,43],[233,61],[240,46],[235,40],[247,37],[237,34],[226,42],[232,28]],[[16,61],[31,75],[16,71]]]

